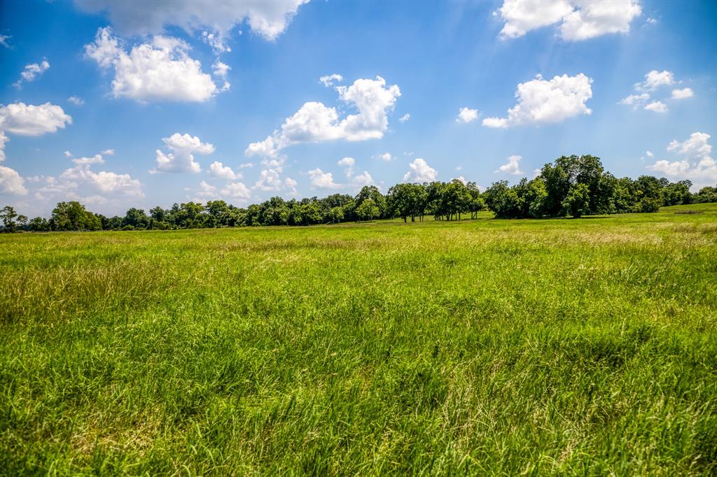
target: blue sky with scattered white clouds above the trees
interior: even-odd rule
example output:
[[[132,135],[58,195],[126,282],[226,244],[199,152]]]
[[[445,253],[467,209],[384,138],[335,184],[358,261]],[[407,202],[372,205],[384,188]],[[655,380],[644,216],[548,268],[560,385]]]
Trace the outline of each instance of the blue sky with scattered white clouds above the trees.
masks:
[[[490,186],[583,153],[715,185],[716,27],[709,1],[3,1],[0,203]]]

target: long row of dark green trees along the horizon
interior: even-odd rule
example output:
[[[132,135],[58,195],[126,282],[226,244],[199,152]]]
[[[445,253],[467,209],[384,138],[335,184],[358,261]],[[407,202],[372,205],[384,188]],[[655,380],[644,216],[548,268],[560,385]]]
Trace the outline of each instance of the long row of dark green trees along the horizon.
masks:
[[[500,180],[483,192],[475,182],[462,180],[431,183],[399,183],[385,195],[376,186],[365,186],[356,196],[336,193],[324,198],[286,201],[272,197],[247,208],[225,201],[206,204],[175,203],[146,213],[130,208],[125,216],[106,217],[87,211],[81,203],[60,202],[49,219],[19,215],[14,208],[0,210],[0,231],[165,230],[241,226],[308,226],[319,223],[372,221],[402,218],[407,222],[477,218],[489,210],[497,218],[581,217],[584,215],[657,212],[660,206],[717,202],[717,186],[690,193],[689,180],[670,182],[641,175],[636,180],[616,178],[592,155],[563,156],[543,166],[540,173],[515,186]]]

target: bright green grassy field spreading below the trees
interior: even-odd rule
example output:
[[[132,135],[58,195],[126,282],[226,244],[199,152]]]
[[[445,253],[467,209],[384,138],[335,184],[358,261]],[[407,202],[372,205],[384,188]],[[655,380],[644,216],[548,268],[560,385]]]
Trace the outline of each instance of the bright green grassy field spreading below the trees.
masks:
[[[717,473],[717,204],[23,233],[0,273],[0,473]]]

